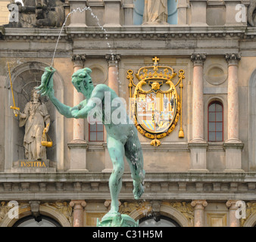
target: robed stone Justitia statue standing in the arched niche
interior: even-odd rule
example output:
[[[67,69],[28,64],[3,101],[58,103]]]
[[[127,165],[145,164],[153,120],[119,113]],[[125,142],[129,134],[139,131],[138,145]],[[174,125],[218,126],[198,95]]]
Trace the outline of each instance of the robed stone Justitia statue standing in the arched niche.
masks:
[[[42,103],[40,95],[34,88],[31,93],[31,100],[26,104],[23,113],[14,110],[19,115],[19,126],[25,126],[23,146],[25,157],[28,160],[46,160],[45,146],[42,146],[42,133],[48,132],[50,127],[50,116],[45,104]]]

